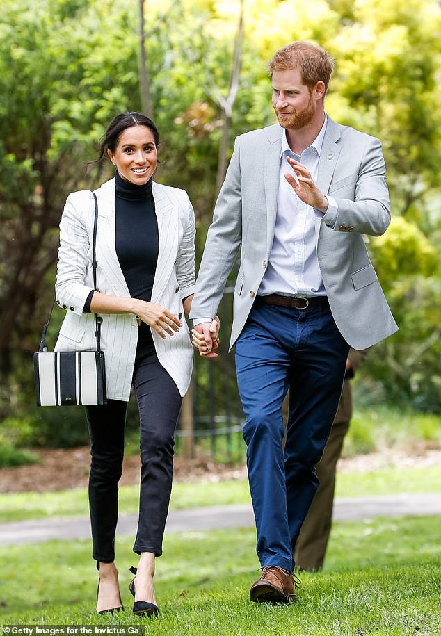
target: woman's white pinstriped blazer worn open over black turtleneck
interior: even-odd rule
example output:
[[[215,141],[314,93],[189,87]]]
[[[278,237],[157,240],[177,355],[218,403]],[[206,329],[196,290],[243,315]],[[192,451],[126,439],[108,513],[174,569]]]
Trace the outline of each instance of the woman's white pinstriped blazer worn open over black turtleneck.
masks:
[[[189,388],[193,349],[184,318],[182,299],[194,291],[193,207],[184,190],[153,184],[158,221],[159,253],[152,302],[178,316],[182,327],[165,340],[152,331],[157,357],[184,396]],[[97,288],[112,296],[129,297],[115,249],[115,179],[95,190],[98,199]],[[95,349],[95,316],[83,313],[93,289],[92,238],[95,206],[88,190],[67,197],[60,223],[56,277],[58,304],[67,309],[56,351]],[[102,314],[102,350],[106,360],[107,397],[129,400],[134,370],[138,323],[133,313]]]

